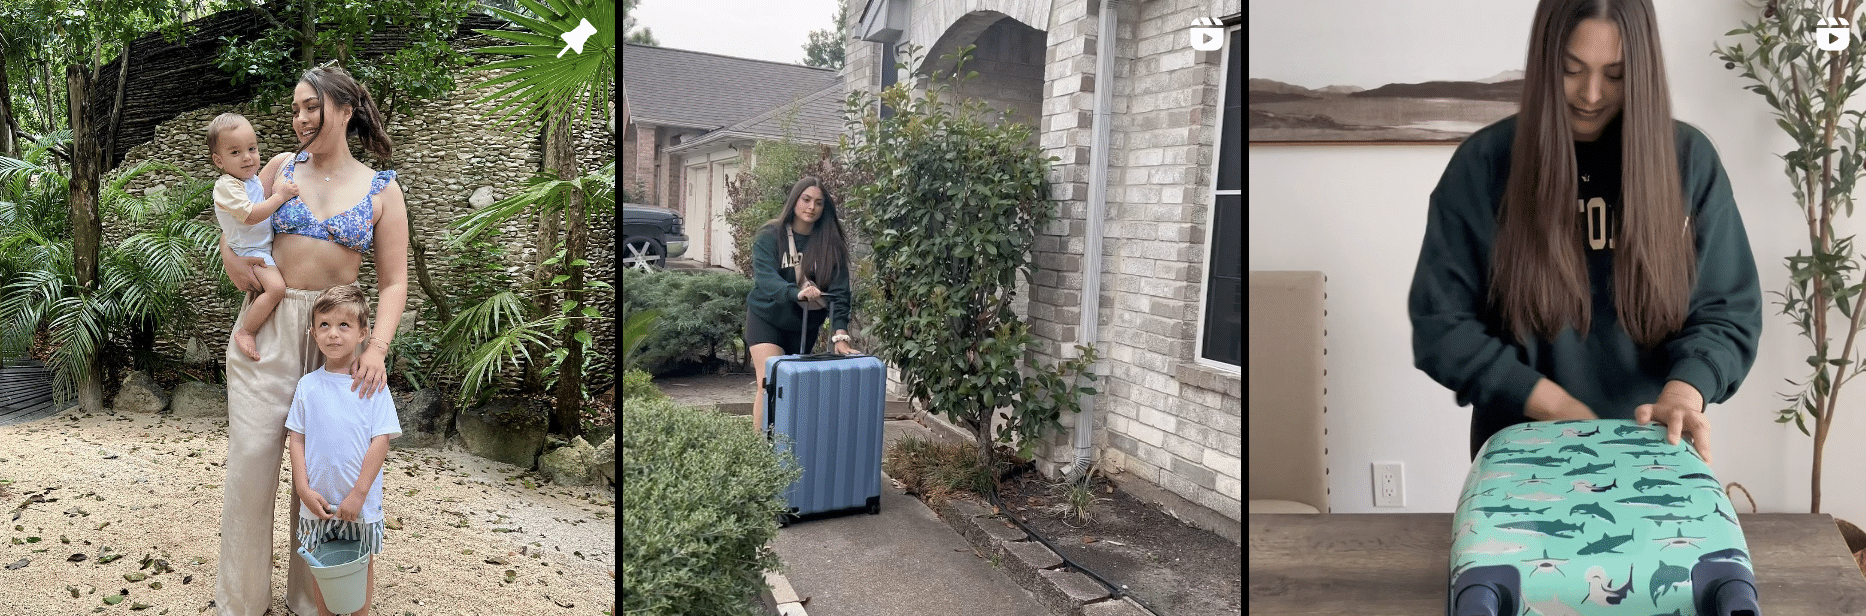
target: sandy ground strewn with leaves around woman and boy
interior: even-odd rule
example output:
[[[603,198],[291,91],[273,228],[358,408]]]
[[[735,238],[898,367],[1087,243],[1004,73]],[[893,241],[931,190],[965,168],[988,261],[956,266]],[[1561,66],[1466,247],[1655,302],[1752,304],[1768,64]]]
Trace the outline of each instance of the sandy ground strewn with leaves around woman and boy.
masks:
[[[211,614],[224,461],[224,418],[67,411],[0,427],[0,614]],[[614,487],[536,485],[536,474],[457,450],[392,450],[383,472],[392,525],[371,614],[612,609]],[[284,616],[285,463],[278,502],[271,614]],[[103,562],[108,554],[121,558]],[[146,556],[172,571],[144,567]],[[131,573],[147,579],[125,581]],[[121,603],[103,601],[121,590]],[[132,612],[138,603],[149,609]]]

